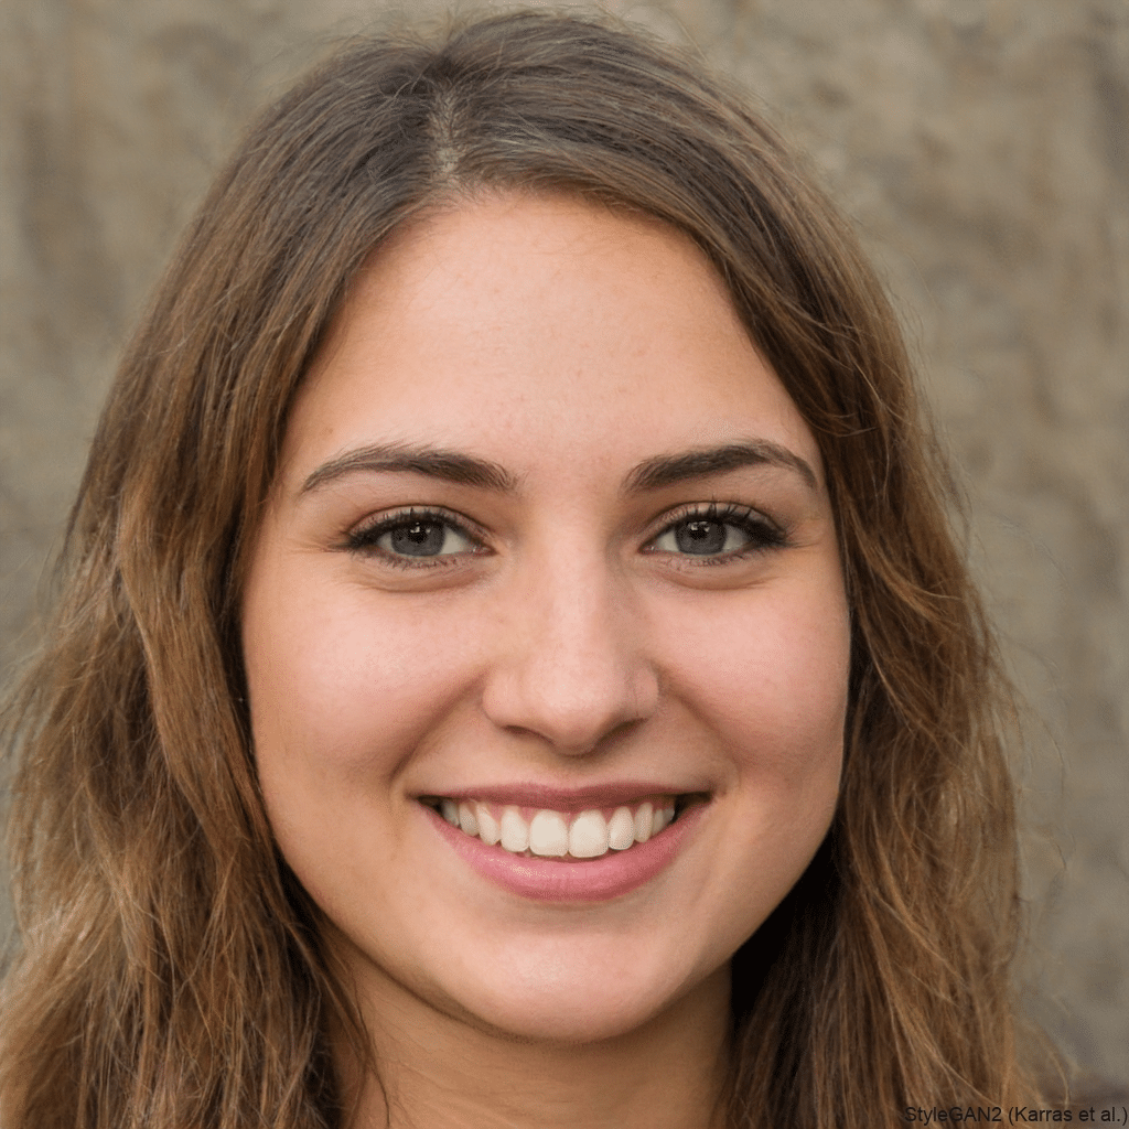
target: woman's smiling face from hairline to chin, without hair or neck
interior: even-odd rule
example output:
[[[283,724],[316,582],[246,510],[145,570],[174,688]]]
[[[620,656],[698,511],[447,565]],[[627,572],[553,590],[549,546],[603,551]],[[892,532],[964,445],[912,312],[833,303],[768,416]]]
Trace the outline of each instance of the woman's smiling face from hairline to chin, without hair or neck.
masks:
[[[697,247],[574,199],[373,257],[243,646],[271,824],[370,999],[595,1040],[724,998],[834,808],[816,444]]]

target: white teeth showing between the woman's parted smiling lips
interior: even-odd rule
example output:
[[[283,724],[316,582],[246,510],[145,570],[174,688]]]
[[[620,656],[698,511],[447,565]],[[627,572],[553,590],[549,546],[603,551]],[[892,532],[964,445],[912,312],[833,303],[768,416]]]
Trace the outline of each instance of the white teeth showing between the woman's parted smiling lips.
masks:
[[[700,793],[650,796],[632,804],[575,813],[446,796],[421,796],[420,803],[464,834],[510,855],[583,860],[645,843],[674,823],[691,804],[707,798]]]

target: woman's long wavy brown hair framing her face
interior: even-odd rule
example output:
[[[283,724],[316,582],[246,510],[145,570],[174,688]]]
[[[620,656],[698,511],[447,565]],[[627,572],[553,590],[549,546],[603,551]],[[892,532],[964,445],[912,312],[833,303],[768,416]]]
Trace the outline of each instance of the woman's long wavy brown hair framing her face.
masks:
[[[744,96],[607,17],[352,41],[262,116],[122,362],[5,715],[19,947],[5,1129],[341,1126],[353,1003],[256,786],[242,579],[288,406],[350,279],[482,189],[660,218],[814,432],[852,618],[831,831],[734,959],[730,1122],[873,1129],[1025,1085],[1010,711],[895,317]]]

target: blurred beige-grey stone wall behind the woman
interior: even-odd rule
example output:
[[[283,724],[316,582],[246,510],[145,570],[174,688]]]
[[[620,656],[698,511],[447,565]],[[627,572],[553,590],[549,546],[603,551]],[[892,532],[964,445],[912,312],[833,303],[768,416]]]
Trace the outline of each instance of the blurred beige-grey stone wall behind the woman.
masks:
[[[34,639],[115,351],[176,234],[253,110],[384,7],[0,8],[0,677]],[[1036,716],[1018,765],[1031,1006],[1127,1084],[1129,3],[606,7],[742,79],[896,296]]]

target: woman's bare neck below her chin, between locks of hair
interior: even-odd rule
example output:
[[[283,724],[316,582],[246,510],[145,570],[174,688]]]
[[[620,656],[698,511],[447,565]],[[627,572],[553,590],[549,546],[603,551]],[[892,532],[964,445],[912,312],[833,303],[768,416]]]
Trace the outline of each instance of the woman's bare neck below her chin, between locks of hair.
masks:
[[[642,1026],[590,1043],[516,1039],[399,986],[365,992],[379,1078],[339,1041],[350,1129],[721,1129],[729,972]],[[711,1112],[707,1112],[711,1111]]]

